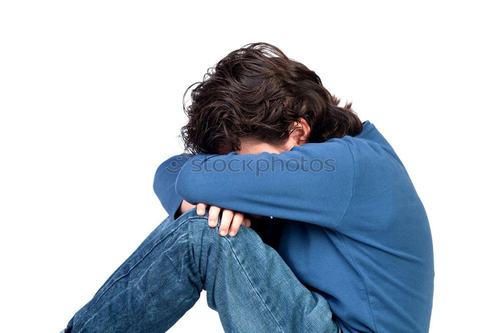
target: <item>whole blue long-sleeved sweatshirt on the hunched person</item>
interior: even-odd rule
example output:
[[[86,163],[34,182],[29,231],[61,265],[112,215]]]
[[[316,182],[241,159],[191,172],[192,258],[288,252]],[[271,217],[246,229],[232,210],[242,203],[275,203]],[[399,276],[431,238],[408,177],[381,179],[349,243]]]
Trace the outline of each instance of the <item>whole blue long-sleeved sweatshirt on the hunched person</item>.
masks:
[[[425,208],[369,120],[356,136],[289,151],[183,154],[157,169],[169,215],[182,198],[271,219],[270,245],[320,292],[343,332],[427,332],[433,247]]]

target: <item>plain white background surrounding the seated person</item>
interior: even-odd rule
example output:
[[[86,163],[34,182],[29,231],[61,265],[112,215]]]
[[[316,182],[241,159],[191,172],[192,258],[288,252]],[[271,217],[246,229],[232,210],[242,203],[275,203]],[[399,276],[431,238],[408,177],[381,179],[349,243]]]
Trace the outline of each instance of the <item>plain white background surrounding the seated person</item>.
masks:
[[[352,100],[407,167],[433,234],[430,331],[495,330],[495,1],[181,2],[0,5],[0,331],[63,329],[166,217],[153,174],[182,152],[184,91],[259,41]],[[222,332],[205,293],[169,331],[188,330]]]

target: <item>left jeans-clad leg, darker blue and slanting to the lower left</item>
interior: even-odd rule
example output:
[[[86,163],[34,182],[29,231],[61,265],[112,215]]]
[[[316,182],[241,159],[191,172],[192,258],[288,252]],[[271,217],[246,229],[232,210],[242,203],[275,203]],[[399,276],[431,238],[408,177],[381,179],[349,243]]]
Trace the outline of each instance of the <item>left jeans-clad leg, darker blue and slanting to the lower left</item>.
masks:
[[[181,216],[180,216],[181,217]],[[165,332],[200,297],[187,215],[164,219],[61,333]]]

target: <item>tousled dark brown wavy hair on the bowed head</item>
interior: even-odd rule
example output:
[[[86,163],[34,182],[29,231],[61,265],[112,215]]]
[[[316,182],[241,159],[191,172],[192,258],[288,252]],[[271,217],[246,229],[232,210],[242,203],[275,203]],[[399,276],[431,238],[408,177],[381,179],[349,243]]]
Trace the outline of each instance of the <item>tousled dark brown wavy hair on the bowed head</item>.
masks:
[[[184,96],[197,83],[186,107]],[[241,137],[283,146],[301,117],[311,128],[308,142],[362,130],[351,102],[338,106],[315,71],[266,42],[230,52],[193,84],[183,96],[188,122],[179,135],[192,154],[239,150]]]

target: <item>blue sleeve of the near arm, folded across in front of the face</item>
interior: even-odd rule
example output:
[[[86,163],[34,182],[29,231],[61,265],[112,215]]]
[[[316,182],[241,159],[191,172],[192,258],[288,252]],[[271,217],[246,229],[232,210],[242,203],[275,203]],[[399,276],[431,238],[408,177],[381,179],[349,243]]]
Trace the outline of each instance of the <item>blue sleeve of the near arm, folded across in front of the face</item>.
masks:
[[[334,229],[350,203],[355,162],[350,143],[333,138],[281,153],[196,154],[181,168],[186,201]]]

